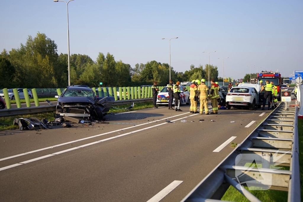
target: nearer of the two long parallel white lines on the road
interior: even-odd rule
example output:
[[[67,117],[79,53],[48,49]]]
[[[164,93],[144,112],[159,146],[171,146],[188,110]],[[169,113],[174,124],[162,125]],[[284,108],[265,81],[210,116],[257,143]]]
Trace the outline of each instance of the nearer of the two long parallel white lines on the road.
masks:
[[[188,113],[185,113],[185,114],[188,114]],[[181,119],[184,119],[184,118],[188,118],[188,117],[191,117],[191,116],[195,116],[195,115],[198,115],[198,114],[192,114],[192,115],[189,115],[189,116],[186,116],[186,117],[175,119],[173,121],[178,121],[178,120],[181,120]],[[56,154],[61,154],[61,153],[67,152],[67,151],[72,151],[72,150],[74,150],[76,148],[86,147],[86,146],[89,146],[89,145],[92,145],[92,144],[97,144],[97,143],[100,143],[100,142],[104,142],[104,141],[107,141],[107,140],[111,140],[111,139],[114,139],[114,138],[117,138],[117,137],[121,137],[121,136],[124,136],[124,135],[132,134],[132,133],[135,133],[135,132],[138,132],[138,131],[143,131],[143,130],[146,130],[146,129],[149,129],[149,128],[153,128],[153,127],[157,127],[157,126],[164,125],[164,124],[167,124],[167,122],[162,123],[162,124],[157,124],[157,125],[154,125],[154,126],[150,126],[150,127],[144,128],[144,129],[140,129],[140,130],[137,130],[137,131],[132,131],[130,133],[125,133],[125,134],[122,134],[122,135],[119,135],[119,136],[109,137],[109,138],[106,138],[104,140],[99,140],[99,141],[96,141],[96,142],[84,144],[84,145],[81,145],[81,146],[78,146],[78,147],[74,147],[74,148],[71,148],[71,149],[59,151],[59,152],[56,152],[56,153],[53,153],[53,154],[48,154],[48,155],[45,155],[45,156],[42,156],[42,157],[38,157],[38,158],[34,158],[34,159],[31,159],[31,160],[28,160],[28,161],[23,161],[23,162],[20,162],[20,164],[27,164],[27,163],[30,163],[30,162],[33,162],[33,161],[38,161],[40,159],[51,157],[51,156],[54,156]],[[7,167],[3,167],[3,168],[0,168],[0,169],[5,170],[5,169],[8,169],[8,168],[10,168],[10,167],[7,166]]]

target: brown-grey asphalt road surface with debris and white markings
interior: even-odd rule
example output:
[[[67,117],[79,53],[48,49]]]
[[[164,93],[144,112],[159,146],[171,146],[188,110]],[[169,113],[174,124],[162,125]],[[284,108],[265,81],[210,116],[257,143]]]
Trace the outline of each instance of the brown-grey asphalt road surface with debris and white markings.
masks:
[[[234,149],[225,141],[240,143],[270,112],[181,109],[0,132],[0,201],[180,201]]]

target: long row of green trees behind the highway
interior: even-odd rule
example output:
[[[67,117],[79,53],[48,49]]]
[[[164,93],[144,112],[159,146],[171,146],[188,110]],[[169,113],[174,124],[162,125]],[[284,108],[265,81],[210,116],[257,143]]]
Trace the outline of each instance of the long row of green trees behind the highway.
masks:
[[[210,65],[210,78],[218,80],[217,66]],[[28,36],[25,44],[0,54],[1,88],[65,88],[68,85],[68,56],[58,54],[54,40],[38,32]],[[169,80],[169,65],[157,61],[131,65],[116,61],[110,53],[99,52],[96,61],[88,55],[70,55],[71,84],[99,86],[151,85],[158,81],[166,85]],[[171,67],[171,79],[176,81],[208,80],[208,64],[177,72]],[[222,79],[223,80],[223,79]]]

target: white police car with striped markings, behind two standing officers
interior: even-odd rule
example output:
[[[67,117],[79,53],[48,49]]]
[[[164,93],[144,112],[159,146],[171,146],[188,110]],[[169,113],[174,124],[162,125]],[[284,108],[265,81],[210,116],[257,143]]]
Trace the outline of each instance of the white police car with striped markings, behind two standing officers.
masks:
[[[175,85],[174,85],[175,86]],[[189,92],[185,86],[180,85],[180,104],[190,104]],[[167,86],[165,86],[159,93],[157,98],[157,104],[168,104],[169,95]],[[172,101],[172,104],[175,104],[175,98]]]

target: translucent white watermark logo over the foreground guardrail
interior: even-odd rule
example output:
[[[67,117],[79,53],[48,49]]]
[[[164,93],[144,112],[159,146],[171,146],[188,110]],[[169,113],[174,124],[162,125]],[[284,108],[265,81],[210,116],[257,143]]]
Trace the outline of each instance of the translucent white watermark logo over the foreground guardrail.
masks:
[[[278,156],[278,151],[270,156],[269,154],[239,154],[235,159],[235,177],[238,181],[237,189],[243,190],[244,184],[249,190],[268,190],[272,184],[272,174],[279,174],[281,167],[278,165],[281,157],[289,151]]]

